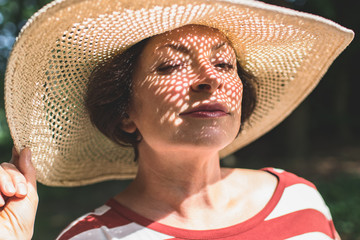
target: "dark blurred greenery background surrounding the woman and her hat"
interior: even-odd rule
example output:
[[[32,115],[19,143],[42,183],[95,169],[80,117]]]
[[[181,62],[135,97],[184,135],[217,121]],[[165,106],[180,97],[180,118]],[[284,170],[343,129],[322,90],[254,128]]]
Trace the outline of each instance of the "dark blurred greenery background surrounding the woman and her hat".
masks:
[[[0,162],[12,141],[4,110],[4,74],[15,38],[27,19],[50,1],[0,0]],[[329,18],[358,32],[360,2],[354,0],[264,1]],[[315,182],[342,239],[360,239],[360,44],[340,55],[314,92],[270,133],[223,159],[230,167],[274,166]],[[54,239],[76,217],[103,204],[128,181],[88,187],[39,184],[40,205],[33,239]]]

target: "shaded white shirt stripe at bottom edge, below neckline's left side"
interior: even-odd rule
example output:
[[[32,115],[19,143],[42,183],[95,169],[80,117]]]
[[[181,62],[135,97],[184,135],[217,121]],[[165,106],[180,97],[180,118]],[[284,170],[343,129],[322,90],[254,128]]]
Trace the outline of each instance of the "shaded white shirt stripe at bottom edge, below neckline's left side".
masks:
[[[129,223],[110,229],[105,226],[91,229],[69,240],[165,240],[169,238],[172,236],[156,232],[137,223]]]

